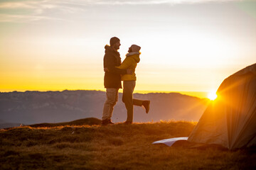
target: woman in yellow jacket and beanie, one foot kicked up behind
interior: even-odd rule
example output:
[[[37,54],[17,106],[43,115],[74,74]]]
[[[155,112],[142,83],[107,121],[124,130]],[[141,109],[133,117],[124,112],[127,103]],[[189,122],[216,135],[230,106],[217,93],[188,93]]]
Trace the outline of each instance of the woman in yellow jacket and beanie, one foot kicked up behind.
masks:
[[[123,96],[122,101],[127,108],[127,120],[124,124],[132,124],[133,121],[133,106],[144,106],[146,108],[146,113],[149,113],[149,104],[150,101],[142,101],[133,98],[133,92],[136,85],[136,74],[135,69],[137,67],[137,63],[139,63],[139,55],[141,52],[139,50],[141,47],[138,45],[132,45],[129,47],[126,58],[122,62],[122,64],[117,67],[119,69],[132,69],[133,74],[124,74],[121,77],[123,83]]]

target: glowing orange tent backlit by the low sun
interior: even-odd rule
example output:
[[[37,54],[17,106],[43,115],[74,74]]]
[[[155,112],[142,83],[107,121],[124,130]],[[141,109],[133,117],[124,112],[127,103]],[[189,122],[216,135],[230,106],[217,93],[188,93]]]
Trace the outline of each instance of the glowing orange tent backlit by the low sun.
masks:
[[[225,79],[217,95],[188,141],[228,149],[256,145],[256,63]]]

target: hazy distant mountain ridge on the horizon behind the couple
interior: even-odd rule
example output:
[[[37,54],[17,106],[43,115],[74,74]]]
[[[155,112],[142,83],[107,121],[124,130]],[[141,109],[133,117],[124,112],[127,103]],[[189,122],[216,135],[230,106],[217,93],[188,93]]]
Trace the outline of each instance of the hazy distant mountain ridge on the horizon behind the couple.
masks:
[[[102,118],[104,91],[26,91],[0,93],[0,119],[6,123],[61,123],[82,118]],[[170,94],[134,94],[134,98],[150,100],[148,114],[134,106],[134,122],[159,120],[198,120],[208,99]],[[113,122],[122,122],[127,111],[122,94],[114,107]],[[0,123],[1,124],[1,123]]]

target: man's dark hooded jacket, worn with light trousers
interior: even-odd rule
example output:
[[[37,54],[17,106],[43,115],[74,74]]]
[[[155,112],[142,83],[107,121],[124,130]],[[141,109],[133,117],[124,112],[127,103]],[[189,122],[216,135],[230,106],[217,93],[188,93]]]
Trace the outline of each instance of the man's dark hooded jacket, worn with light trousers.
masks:
[[[104,86],[105,88],[122,89],[121,74],[127,74],[126,69],[118,69],[121,65],[121,57],[119,52],[113,50],[109,45],[105,46],[104,68],[107,67],[110,72],[105,72]]]

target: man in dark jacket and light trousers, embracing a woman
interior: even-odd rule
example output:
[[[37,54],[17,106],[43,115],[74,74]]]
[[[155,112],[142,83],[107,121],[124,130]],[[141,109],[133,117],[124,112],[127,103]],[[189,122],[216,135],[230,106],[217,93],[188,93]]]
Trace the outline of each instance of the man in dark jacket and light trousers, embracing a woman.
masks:
[[[107,99],[102,113],[102,125],[114,124],[111,121],[111,117],[118,100],[118,90],[122,89],[121,74],[132,74],[132,70],[130,69],[116,68],[121,64],[121,57],[117,51],[120,45],[120,40],[117,37],[110,39],[110,45],[105,45],[104,86],[106,88]]]

